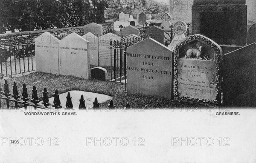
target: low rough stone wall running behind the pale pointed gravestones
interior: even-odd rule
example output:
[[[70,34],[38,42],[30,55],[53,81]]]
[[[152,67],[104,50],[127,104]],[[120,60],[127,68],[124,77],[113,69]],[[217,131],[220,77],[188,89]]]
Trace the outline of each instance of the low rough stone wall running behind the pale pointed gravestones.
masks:
[[[107,34],[112,32],[114,29],[113,22],[103,23],[101,24],[103,34]],[[12,45],[20,45],[20,44],[31,44],[35,43],[35,38],[43,34],[44,32],[49,32],[59,40],[66,37],[70,33],[76,32],[80,36],[84,35],[84,27],[69,27],[69,28],[61,28],[61,29],[46,29],[46,30],[38,30],[38,31],[23,31],[23,32],[15,32],[15,33],[7,33],[0,34],[0,46],[12,46]]]

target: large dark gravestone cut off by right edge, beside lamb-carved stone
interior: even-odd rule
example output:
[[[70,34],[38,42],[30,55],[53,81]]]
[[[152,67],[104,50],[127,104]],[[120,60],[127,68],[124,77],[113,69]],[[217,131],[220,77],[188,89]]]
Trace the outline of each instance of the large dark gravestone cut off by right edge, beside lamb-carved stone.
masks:
[[[256,107],[256,43],[223,56],[223,104]]]

